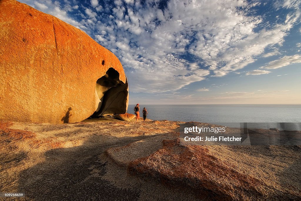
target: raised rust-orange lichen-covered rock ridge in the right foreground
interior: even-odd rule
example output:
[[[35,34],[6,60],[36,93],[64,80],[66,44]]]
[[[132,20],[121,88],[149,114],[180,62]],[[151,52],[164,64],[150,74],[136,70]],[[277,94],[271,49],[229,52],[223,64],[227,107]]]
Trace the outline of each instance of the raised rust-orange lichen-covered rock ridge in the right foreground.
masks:
[[[179,139],[164,140],[162,149],[133,161],[129,171],[157,178],[167,185],[191,187],[203,198],[264,196],[264,182],[234,170],[230,163],[211,155],[206,146],[182,146]]]

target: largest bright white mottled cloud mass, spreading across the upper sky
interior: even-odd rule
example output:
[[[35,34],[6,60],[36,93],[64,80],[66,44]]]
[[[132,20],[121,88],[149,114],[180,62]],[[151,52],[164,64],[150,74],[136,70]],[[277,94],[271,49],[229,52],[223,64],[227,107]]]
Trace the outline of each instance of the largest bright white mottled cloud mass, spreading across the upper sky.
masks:
[[[133,91],[141,91],[137,77],[151,83],[142,87],[151,92],[178,89],[203,80],[210,71],[199,74],[196,70],[202,65],[211,66],[214,76],[224,76],[254,62],[253,56],[262,54],[266,46],[281,44],[287,30],[286,26],[275,26],[254,32],[262,19],[238,11],[237,7],[248,6],[243,1],[169,1],[164,13],[156,7],[137,4],[137,10],[128,9],[128,15],[120,1],[115,1],[115,5],[109,24],[116,24],[118,32],[103,25],[99,31],[115,36],[114,41],[108,39],[102,45],[118,49],[116,53],[129,80],[135,83]],[[154,23],[156,19],[160,23]],[[195,37],[194,43],[191,37]],[[179,58],[186,47],[202,59],[200,63]]]

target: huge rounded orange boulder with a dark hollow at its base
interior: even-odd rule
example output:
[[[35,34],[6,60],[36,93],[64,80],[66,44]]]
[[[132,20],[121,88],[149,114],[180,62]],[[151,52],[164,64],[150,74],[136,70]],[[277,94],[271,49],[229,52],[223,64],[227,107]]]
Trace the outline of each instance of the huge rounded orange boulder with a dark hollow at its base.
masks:
[[[122,100],[101,114],[126,112],[120,61],[84,32],[14,0],[0,1],[0,27],[0,121],[79,122],[109,89]]]

